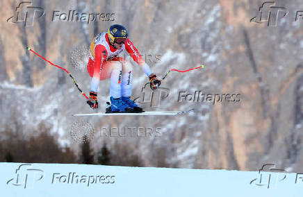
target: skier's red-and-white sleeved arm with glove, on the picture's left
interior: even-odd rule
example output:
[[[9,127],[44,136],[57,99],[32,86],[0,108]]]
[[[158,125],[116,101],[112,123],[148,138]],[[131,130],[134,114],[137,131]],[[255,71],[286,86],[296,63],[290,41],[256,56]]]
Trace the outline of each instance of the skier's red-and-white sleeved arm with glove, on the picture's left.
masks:
[[[106,49],[103,45],[98,44],[95,47],[94,74],[90,82],[90,99],[87,101],[90,108],[98,108],[97,94],[99,90],[99,81],[102,71],[102,65],[106,59]]]

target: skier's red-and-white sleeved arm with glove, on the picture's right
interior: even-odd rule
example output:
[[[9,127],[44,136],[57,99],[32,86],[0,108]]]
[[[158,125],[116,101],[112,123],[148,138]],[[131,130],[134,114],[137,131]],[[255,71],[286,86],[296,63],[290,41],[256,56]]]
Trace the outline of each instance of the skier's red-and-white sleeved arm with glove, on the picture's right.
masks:
[[[133,45],[133,42],[131,42],[131,40],[129,40],[127,38],[124,45],[125,45],[126,51],[129,53],[129,55],[131,55],[131,58],[133,58],[133,60],[135,62],[137,62],[137,64],[142,68],[142,70],[145,72],[145,74],[149,77],[151,89],[153,89],[153,90],[157,89],[157,87],[159,87],[161,85],[161,81],[158,80],[156,74],[154,74],[151,71],[149,65],[147,65],[145,60],[142,58],[142,56],[140,55],[136,46]]]

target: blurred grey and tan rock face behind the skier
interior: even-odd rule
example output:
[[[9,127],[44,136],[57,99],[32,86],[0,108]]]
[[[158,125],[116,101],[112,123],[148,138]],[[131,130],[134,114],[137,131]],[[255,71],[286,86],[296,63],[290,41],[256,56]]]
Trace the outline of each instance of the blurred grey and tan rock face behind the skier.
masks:
[[[128,142],[129,150],[140,154],[146,166],[166,163],[199,169],[258,170],[263,164],[275,163],[288,171],[300,171],[303,21],[296,17],[300,1],[275,3],[287,15],[277,15],[275,8],[265,5],[275,16],[267,23],[256,22],[262,6],[256,1],[33,1],[33,6],[45,11],[42,17],[35,17],[33,26],[0,22],[1,128],[17,123],[26,135],[44,121],[59,132],[63,143],[76,150],[79,145],[72,142],[69,129],[79,119],[71,114],[91,111],[64,71],[28,53],[25,47],[31,46],[68,69],[88,92],[90,78],[85,69],[73,66],[73,51],[88,49],[90,40],[110,24],[124,24],[139,51],[151,55],[148,63],[159,76],[170,67],[205,65],[202,71],[171,72],[162,84],[164,96],[157,97],[161,103],[142,106],[146,110],[195,108],[195,112],[165,118],[85,119],[95,126],[92,144],[96,149],[103,140],[109,144]],[[6,0],[1,4],[1,13],[7,19],[15,15],[17,2]],[[69,10],[112,15],[110,21],[90,23],[85,19],[63,22],[62,17],[52,21],[54,13]],[[156,61],[157,54],[160,61]],[[84,68],[85,60],[81,65]],[[133,69],[133,98],[142,98],[147,78],[136,63]],[[100,112],[105,110],[108,87],[108,80],[100,83]],[[161,94],[159,91],[154,94]],[[218,101],[213,104],[210,100],[181,98],[179,102],[181,91],[218,94],[222,100],[216,97]],[[226,94],[238,94],[237,100],[230,101]],[[138,128],[145,127],[145,135],[105,137],[101,132],[104,128],[126,127],[135,127],[137,134]],[[161,136],[146,135],[147,128],[160,128]]]

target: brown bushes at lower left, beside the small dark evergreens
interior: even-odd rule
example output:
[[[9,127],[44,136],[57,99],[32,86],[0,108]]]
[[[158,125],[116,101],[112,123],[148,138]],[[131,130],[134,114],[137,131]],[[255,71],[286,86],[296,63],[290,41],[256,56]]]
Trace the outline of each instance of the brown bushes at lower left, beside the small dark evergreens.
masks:
[[[18,123],[13,128],[5,127],[0,139],[0,162],[26,163],[77,163],[76,155],[69,147],[61,147],[58,135],[51,134],[51,129],[40,123],[33,133],[37,135],[19,135]],[[19,130],[19,131],[17,131]],[[18,134],[19,133],[19,134]]]

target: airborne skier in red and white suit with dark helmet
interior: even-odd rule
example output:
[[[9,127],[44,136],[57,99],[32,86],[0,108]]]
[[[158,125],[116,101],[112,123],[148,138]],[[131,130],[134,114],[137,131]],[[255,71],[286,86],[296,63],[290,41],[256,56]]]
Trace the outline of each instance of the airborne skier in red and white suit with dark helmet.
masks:
[[[143,60],[138,49],[129,40],[127,30],[120,24],[108,28],[108,32],[99,33],[90,44],[90,58],[87,70],[92,77],[90,83],[90,99],[87,101],[90,108],[98,108],[97,92],[99,80],[110,78],[110,110],[111,112],[142,112],[137,103],[130,99],[133,83],[133,69],[131,63],[119,53],[126,50],[131,58],[140,65],[149,77],[152,90],[161,85],[156,74]]]

